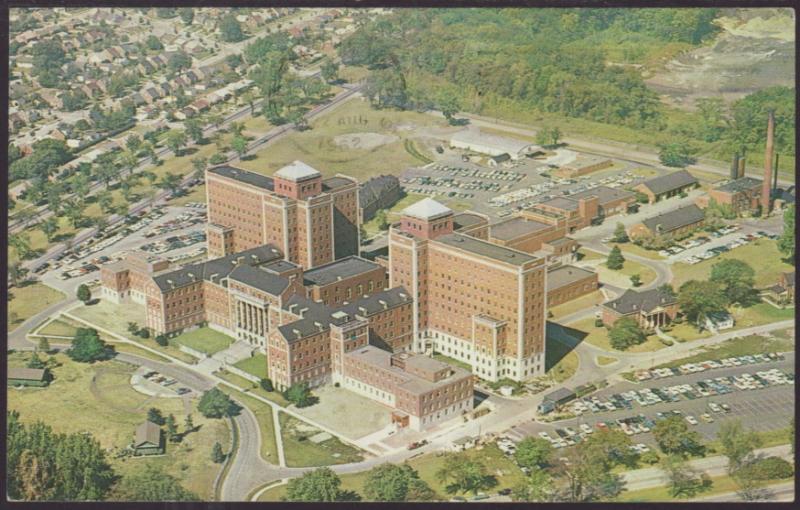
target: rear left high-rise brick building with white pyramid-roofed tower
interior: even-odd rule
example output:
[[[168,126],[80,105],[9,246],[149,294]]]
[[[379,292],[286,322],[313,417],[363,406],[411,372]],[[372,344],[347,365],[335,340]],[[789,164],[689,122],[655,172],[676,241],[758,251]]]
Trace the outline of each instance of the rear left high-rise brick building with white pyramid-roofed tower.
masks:
[[[272,244],[306,269],[358,255],[358,183],[323,179],[295,161],[273,177],[232,166],[206,170],[208,255]]]

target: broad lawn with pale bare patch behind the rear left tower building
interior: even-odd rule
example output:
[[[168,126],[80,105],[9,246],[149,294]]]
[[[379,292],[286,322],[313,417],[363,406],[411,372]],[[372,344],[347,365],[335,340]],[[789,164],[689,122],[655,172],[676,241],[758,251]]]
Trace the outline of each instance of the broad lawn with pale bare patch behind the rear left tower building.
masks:
[[[342,173],[364,182],[380,174],[399,174],[420,162],[404,147],[404,140],[420,128],[444,126],[444,119],[412,111],[373,110],[369,103],[352,99],[311,122],[310,129],[293,132],[258,151],[256,157],[236,164],[271,175],[294,160],[302,160],[325,177]],[[334,137],[353,133],[379,133],[395,137],[372,148],[346,148]]]

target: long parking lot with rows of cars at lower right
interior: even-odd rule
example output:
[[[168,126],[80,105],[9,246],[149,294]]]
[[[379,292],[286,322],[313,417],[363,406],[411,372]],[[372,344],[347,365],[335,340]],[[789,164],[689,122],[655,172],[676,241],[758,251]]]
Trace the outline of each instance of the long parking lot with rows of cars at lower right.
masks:
[[[625,392],[639,391],[647,389],[661,389],[678,385],[696,385],[704,380],[714,380],[717,378],[742,378],[743,374],[754,376],[757,372],[765,372],[777,369],[783,373],[794,374],[794,353],[786,353],[785,359],[768,363],[757,363],[752,365],[742,365],[738,367],[719,368],[706,370],[704,372],[690,373],[664,379],[650,380],[646,383],[620,383],[593,394],[599,401],[608,401],[612,395],[620,395]],[[732,379],[733,380],[733,379]],[[731,386],[733,386],[731,384]],[[716,410],[710,404],[715,404]],[[740,419],[745,427],[750,427],[758,431],[774,430],[786,427],[789,419],[794,415],[794,382],[793,378],[789,384],[770,385],[760,389],[739,389],[733,387],[732,391],[725,394],[695,397],[688,399],[680,396],[677,401],[665,401],[660,403],[648,404],[646,406],[638,403],[630,403],[630,409],[623,407],[615,411],[586,412],[576,418],[561,420],[554,423],[537,423],[534,421],[524,423],[512,428],[506,434],[508,437],[518,441],[528,436],[539,436],[541,432],[547,432],[551,437],[559,437],[557,429],[567,427],[580,431],[583,426],[598,429],[598,423],[604,422],[612,428],[622,428],[616,421],[642,416],[650,427],[667,416],[667,413],[679,411],[686,418],[691,416],[696,424],[690,424],[692,430],[696,430],[705,440],[716,437],[720,423],[729,419]],[[727,406],[729,410],[721,409]],[[713,421],[706,422],[701,416],[707,414]],[[688,420],[687,420],[688,421]],[[640,427],[636,427],[640,429]],[[584,433],[585,435],[585,433]],[[637,431],[631,435],[634,443],[644,443],[653,446],[655,441],[652,434],[646,431]]]

